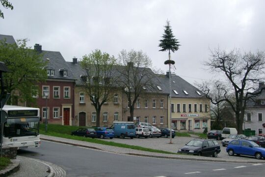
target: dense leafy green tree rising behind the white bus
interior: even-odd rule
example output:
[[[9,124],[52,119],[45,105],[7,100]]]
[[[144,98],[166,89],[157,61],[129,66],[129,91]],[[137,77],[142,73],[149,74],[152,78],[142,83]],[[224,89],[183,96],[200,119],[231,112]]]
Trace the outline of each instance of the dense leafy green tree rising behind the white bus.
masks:
[[[32,88],[47,79],[47,71],[43,69],[47,63],[42,55],[27,47],[27,39],[18,40],[17,44],[6,44],[1,40],[0,61],[10,71],[3,73],[5,90],[11,93],[8,104],[18,101],[35,104],[36,99],[32,95],[36,95],[38,90]],[[16,97],[18,100],[14,101]]]

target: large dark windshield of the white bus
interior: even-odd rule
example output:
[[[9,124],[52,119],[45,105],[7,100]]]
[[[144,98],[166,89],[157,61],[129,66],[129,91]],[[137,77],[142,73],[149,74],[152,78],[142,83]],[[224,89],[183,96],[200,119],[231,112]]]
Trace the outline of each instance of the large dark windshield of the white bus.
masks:
[[[39,135],[39,118],[8,118],[3,125],[4,137],[37,135]]]

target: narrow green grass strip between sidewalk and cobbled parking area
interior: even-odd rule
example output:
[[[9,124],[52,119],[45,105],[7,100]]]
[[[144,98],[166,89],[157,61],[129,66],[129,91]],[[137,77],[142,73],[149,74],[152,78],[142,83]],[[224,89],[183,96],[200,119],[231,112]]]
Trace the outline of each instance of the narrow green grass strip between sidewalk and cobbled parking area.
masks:
[[[51,131],[48,131],[47,133],[45,133],[45,131],[40,130],[40,133],[43,135],[55,136],[55,137],[60,137],[60,138],[67,138],[67,139],[71,139],[71,140],[85,141],[85,142],[114,146],[114,147],[120,147],[120,148],[131,148],[131,149],[136,149],[136,150],[158,152],[158,153],[165,153],[165,154],[178,154],[178,153],[168,152],[168,151],[164,151],[164,150],[158,150],[158,149],[152,149],[152,148],[143,148],[143,147],[139,147],[139,146],[132,146],[132,145],[126,145],[126,144],[121,144],[121,143],[115,143],[115,142],[107,142],[107,141],[99,140],[96,138],[92,139],[92,138],[85,138],[85,137],[79,137],[79,136],[72,136],[72,135],[55,133],[55,132],[51,132]]]

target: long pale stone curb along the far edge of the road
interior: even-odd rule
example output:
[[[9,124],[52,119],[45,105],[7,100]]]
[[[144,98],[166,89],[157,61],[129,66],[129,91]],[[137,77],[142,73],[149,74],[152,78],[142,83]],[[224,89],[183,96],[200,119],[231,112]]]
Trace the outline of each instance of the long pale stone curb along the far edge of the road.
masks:
[[[41,140],[46,140],[46,141],[51,141],[51,142],[56,142],[56,143],[63,143],[67,145],[73,145],[73,146],[79,146],[83,148],[92,148],[92,149],[97,149],[97,150],[104,150],[104,151],[109,151],[109,152],[115,152],[115,153],[120,153],[120,154],[128,154],[128,155],[135,155],[135,156],[143,156],[143,157],[155,157],[155,158],[166,158],[166,159],[179,159],[179,160],[194,160],[194,161],[209,161],[209,162],[229,162],[229,163],[265,163],[265,160],[261,162],[253,162],[253,161],[241,161],[241,160],[224,160],[224,159],[209,159],[209,158],[190,158],[190,157],[173,157],[173,156],[163,156],[163,155],[148,155],[148,154],[138,154],[138,153],[121,153],[121,152],[116,152],[116,151],[110,151],[110,150],[105,150],[101,148],[96,148],[96,147],[91,147],[91,146],[86,146],[86,145],[79,145],[75,143],[69,143],[69,142],[63,142],[59,140],[51,140],[47,138],[40,138]]]

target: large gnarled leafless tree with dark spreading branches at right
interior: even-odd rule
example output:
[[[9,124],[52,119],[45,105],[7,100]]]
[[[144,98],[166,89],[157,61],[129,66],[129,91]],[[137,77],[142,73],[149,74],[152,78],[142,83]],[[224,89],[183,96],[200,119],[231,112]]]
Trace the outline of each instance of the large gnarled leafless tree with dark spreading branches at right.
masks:
[[[224,98],[214,100],[210,94],[209,87],[205,87],[202,90],[213,104],[226,101],[231,106],[236,116],[238,133],[242,133],[246,102],[251,97],[260,94],[263,90],[260,89],[254,92],[257,89],[257,83],[264,81],[264,52],[258,51],[256,53],[248,52],[241,54],[237,49],[230,52],[215,49],[211,51],[209,61],[206,61],[204,64],[213,73],[225,76],[226,81],[221,85],[216,85],[216,89],[221,90]],[[231,97],[231,95],[233,96]]]

